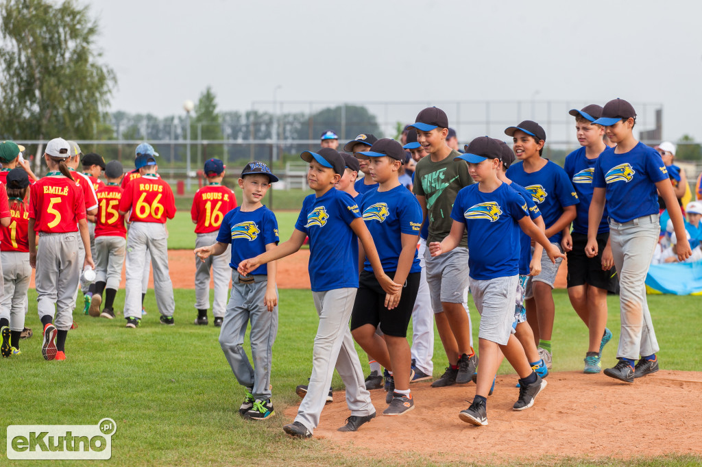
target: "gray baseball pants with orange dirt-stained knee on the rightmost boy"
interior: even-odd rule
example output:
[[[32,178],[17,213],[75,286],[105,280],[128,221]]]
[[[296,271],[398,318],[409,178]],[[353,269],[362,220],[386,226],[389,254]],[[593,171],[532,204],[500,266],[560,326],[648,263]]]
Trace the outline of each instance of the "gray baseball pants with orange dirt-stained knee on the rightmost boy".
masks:
[[[636,360],[660,350],[646,300],[645,284],[660,231],[657,214],[624,224],[609,221],[609,240],[620,287],[621,334],[617,358]]]

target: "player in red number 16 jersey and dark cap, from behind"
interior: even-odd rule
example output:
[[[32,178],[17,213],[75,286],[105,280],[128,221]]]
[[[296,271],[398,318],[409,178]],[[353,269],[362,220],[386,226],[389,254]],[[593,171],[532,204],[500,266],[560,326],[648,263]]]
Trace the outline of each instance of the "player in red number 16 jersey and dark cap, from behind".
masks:
[[[216,243],[217,234],[225,214],[237,207],[237,197],[234,191],[223,187],[225,165],[219,159],[208,159],[204,166],[206,185],[195,192],[192,198],[190,217],[195,224],[195,248]],[[230,247],[227,247],[230,248]],[[195,309],[197,309],[196,325],[207,325],[207,310],[210,307],[210,269],[215,283],[212,314],[214,325],[220,327],[227,306],[227,292],[231,276],[229,250],[223,255],[209,257],[203,261],[195,259]]]

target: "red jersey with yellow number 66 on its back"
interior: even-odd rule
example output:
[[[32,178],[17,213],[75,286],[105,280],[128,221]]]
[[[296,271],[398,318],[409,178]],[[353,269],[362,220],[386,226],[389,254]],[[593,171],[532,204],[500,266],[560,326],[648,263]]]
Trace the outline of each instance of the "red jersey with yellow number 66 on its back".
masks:
[[[128,222],[166,223],[166,218],[176,215],[173,190],[164,180],[154,176],[139,177],[124,189],[119,210],[128,212]]]

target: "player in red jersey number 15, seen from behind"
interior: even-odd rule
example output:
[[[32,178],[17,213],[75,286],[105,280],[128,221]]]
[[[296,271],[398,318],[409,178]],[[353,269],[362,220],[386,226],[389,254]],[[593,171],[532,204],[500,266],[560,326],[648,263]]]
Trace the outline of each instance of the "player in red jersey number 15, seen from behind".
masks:
[[[86,156],[87,157],[87,156]],[[114,318],[114,297],[122,278],[122,265],[126,254],[126,228],[124,216],[119,215],[119,200],[124,194],[119,184],[124,169],[119,161],[110,161],[105,165],[107,184],[98,188],[98,214],[95,215],[95,283],[91,284],[92,293],[90,316]],[[105,307],[100,313],[100,305]]]

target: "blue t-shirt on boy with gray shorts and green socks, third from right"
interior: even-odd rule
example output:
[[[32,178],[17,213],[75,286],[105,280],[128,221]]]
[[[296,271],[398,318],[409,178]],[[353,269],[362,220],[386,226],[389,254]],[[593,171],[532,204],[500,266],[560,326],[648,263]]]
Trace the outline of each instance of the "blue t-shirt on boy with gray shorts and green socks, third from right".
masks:
[[[566,172],[559,165],[548,161],[536,172],[524,171],[524,163],[519,161],[507,169],[507,177],[529,191],[538,210],[543,215],[546,229],[555,224],[563,214],[563,208],[578,204],[578,194],[573,189]],[[548,238],[551,243],[561,243],[562,232]]]

